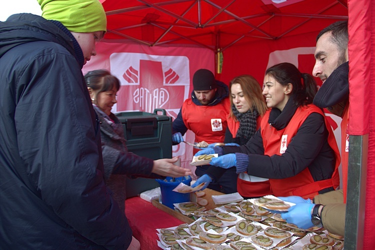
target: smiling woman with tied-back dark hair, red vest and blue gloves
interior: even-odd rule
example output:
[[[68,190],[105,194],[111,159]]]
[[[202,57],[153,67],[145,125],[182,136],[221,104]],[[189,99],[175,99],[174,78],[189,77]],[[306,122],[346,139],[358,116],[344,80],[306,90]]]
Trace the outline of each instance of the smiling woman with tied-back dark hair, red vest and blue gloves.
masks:
[[[211,165],[236,167],[237,173],[268,178],[272,194],[310,198],[339,185],[339,151],[322,110],[312,104],[314,79],[290,63],[265,72],[263,95],[268,108],[260,129],[239,147],[214,147]]]

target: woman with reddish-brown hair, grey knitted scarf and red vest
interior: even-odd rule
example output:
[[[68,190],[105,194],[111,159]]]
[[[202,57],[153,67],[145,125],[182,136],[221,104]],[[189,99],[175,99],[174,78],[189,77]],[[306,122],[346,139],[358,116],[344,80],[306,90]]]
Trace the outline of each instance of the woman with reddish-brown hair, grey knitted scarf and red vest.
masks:
[[[244,145],[260,127],[260,121],[268,110],[259,83],[250,75],[235,77],[229,84],[230,107],[225,145]],[[216,143],[209,146],[213,147]],[[192,184],[192,187],[205,182],[203,189],[212,181],[226,174],[226,169],[210,166],[204,175]],[[233,167],[233,171],[235,168]],[[268,179],[240,173],[236,183],[232,183],[243,197],[255,197],[270,194]]]

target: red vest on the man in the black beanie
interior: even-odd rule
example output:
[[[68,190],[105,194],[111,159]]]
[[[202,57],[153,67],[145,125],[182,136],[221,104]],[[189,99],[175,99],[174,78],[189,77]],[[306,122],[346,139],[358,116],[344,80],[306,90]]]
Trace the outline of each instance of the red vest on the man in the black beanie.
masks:
[[[223,142],[229,114],[229,98],[214,106],[198,106],[191,99],[182,104],[182,119],[186,128],[195,134],[195,142]],[[193,148],[193,154],[199,149]]]

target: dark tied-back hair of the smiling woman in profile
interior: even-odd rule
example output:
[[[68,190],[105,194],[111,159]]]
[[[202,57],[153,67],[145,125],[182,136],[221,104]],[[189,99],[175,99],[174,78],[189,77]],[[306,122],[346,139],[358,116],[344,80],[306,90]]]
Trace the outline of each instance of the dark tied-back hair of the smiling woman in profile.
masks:
[[[294,105],[301,106],[312,103],[317,92],[315,79],[309,74],[300,73],[291,63],[276,64],[265,71],[265,75],[271,75],[279,84],[293,86],[291,95],[294,96]]]

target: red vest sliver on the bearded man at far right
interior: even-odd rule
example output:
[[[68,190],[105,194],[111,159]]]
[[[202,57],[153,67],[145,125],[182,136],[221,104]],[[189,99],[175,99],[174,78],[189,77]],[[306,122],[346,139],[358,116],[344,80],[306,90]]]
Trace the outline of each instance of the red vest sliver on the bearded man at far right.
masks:
[[[347,171],[349,157],[349,135],[346,134],[347,124],[349,122],[349,102],[346,103],[341,121],[341,170],[342,170],[342,190],[344,195],[344,203],[346,203],[347,191]]]

